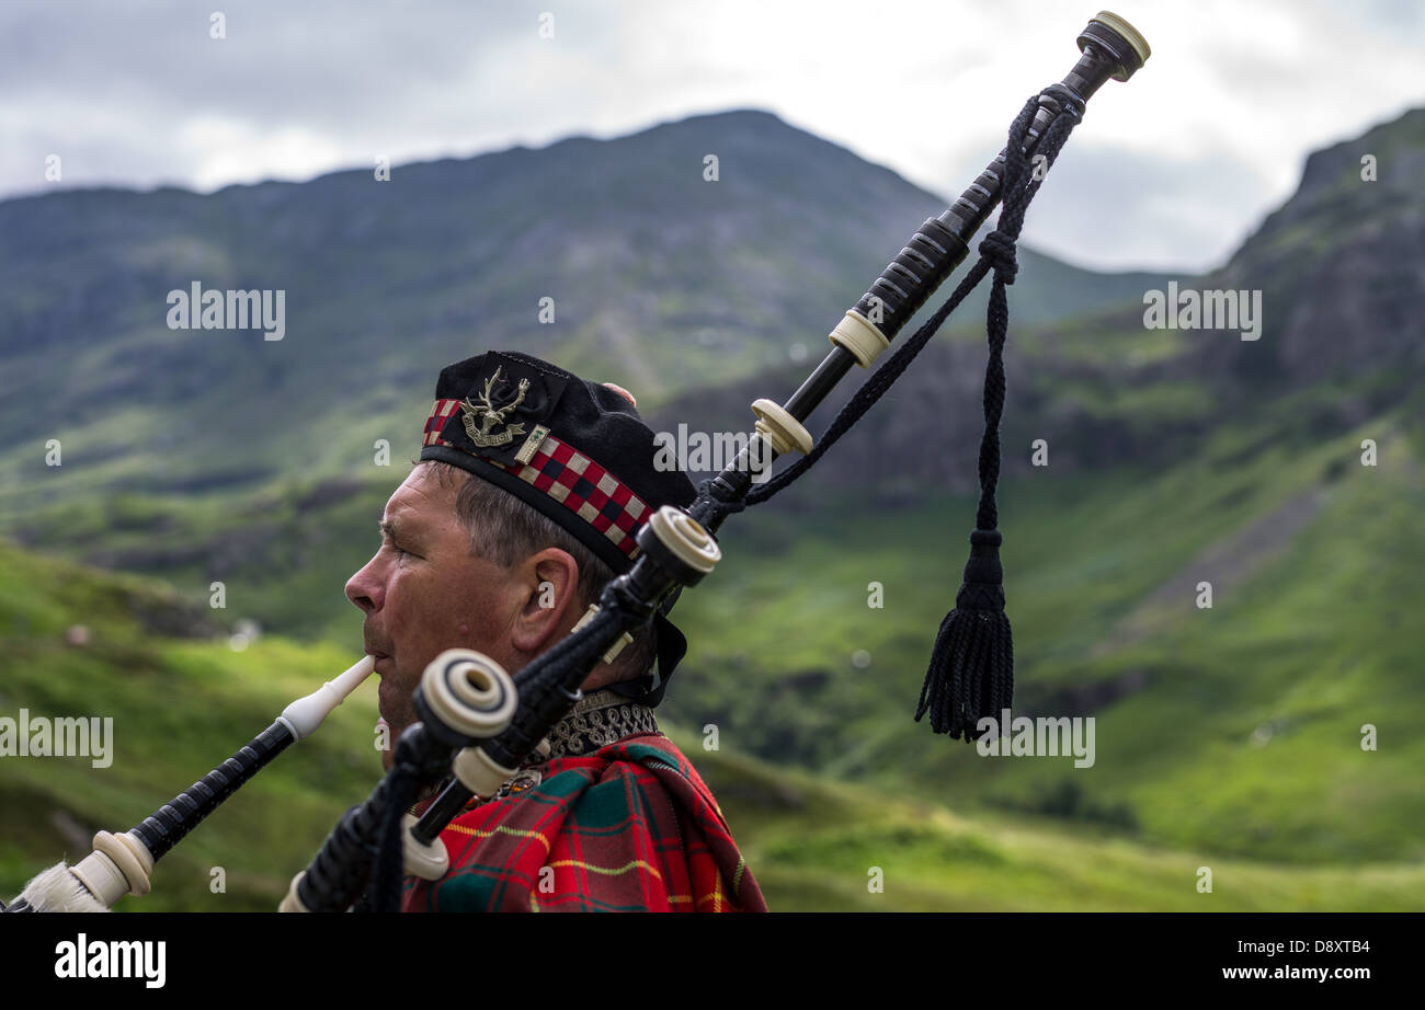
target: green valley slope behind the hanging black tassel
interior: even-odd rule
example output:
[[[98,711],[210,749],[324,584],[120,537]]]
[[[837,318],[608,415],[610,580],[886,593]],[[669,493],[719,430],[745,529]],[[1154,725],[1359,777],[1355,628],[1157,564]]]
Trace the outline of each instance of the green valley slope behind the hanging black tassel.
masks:
[[[1157,472],[1089,480],[1050,467],[1002,489],[1017,701],[1054,715],[1070,708],[1066,691],[1146,681],[1087,708],[1092,769],[980,759],[909,719],[959,583],[966,500],[874,526],[832,507],[777,506],[730,524],[724,567],[678,607],[697,651],[670,715],[717,722],[742,751],[960,809],[1042,808],[1241,858],[1419,860],[1425,631],[1411,614],[1425,564],[1425,443],[1392,434],[1405,412],[1292,434],[1305,409],[1277,405]],[[1359,466],[1362,437],[1381,440],[1379,467]],[[1311,524],[1251,578],[1220,588],[1213,610],[1184,595],[1150,615],[1147,638],[1096,655],[1159,584],[1321,487]],[[866,605],[872,580],[885,585],[884,610]],[[856,650],[871,654],[868,668],[854,667]],[[1364,724],[1378,728],[1377,752],[1359,748]]]

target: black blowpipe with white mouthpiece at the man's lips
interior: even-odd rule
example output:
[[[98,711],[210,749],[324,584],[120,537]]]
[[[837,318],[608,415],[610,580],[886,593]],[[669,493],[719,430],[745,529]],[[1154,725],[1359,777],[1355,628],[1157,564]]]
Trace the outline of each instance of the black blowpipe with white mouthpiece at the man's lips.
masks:
[[[124,893],[148,892],[154,863],[197,828],[272,758],[316,732],[332,709],[370,677],[375,658],[362,657],[312,694],[298,698],[231,758],[125,832],[94,836],[94,852],[74,866],[58,863],[36,878],[6,912],[108,907]]]

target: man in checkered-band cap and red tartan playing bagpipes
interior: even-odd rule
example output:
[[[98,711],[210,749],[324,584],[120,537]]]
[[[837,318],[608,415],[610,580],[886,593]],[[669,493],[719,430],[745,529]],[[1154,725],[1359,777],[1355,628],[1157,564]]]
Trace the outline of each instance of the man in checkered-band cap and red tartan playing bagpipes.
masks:
[[[693,501],[688,479],[654,460],[617,386],[514,352],[440,372],[420,460],[346,584],[390,741],[416,721],[412,694],[442,651],[514,674],[570,634],[631,567],[647,517]],[[540,752],[442,833],[450,872],[409,878],[403,909],[765,910],[712,793],[653,718],[685,651],[660,613],[596,667]]]

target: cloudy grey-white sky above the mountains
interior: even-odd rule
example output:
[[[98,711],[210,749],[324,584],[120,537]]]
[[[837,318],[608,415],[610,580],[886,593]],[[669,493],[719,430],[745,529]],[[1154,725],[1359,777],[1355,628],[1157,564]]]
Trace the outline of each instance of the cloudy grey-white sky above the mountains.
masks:
[[[6,0],[0,198],[209,192],[750,107],[953,198],[1103,1]],[[1070,262],[1214,266],[1310,151],[1425,105],[1421,0],[1112,10],[1153,57],[1094,97],[1025,228]]]

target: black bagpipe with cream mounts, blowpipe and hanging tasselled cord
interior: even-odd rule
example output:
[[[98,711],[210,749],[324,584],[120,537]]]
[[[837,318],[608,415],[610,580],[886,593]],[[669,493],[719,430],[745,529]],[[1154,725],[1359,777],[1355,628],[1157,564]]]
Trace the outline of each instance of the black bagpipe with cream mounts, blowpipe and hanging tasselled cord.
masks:
[[[728,516],[767,501],[807,470],[905,372],[950,312],[990,272],[989,365],[985,378],[985,436],[980,443],[980,501],[970,557],[955,608],[932,650],[915,718],[932,729],[976,739],[980,714],[998,715],[1013,694],[1013,648],[1005,614],[995,484],[999,477],[999,419],[1005,400],[1002,352],[1007,333],[1006,286],[1017,265],[1015,244],[1025,211],[1084,113],[1110,78],[1126,81],[1149,58],[1144,38],[1109,11],[1079,33],[1080,56],[1067,76],[1029,98],[1000,154],[939,217],[925,221],[861,299],[829,333],[831,352],[784,402],[758,399],[745,447],[715,477],[704,480],[687,509],[664,506],[637,534],[638,560],[613,578],[598,603],[563,641],[513,677],[470,650],[442,652],[415,692],[419,722],[396,742],[390,771],[351,808],[282,899],[284,912],[396,910],[406,875],[440,879],[449,869],[440,832],[475,801],[496,795],[522,762],[580,699],[580,685],[611,661],[656,611],[698,584],[721,558],[715,538]],[[950,298],[869,379],[814,444],[805,422],[852,366],[871,365],[969,254],[969,242],[1000,205],[998,227],[979,244],[979,261]],[[761,480],[779,456],[802,459]],[[757,480],[754,480],[757,479]],[[757,483],[757,487],[754,487]],[[124,893],[150,887],[154,863],[204,818],[322,719],[372,672],[366,657],[301,698],[232,758],[124,835],[100,832],[94,852],[74,866],[58,863],[36,876],[6,912],[104,910]],[[423,789],[449,779],[416,818],[408,809]]]

